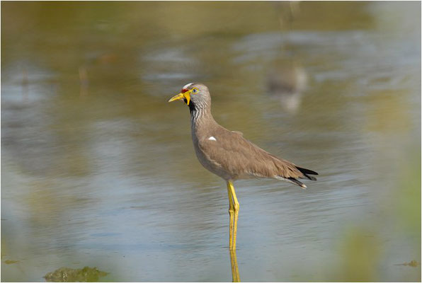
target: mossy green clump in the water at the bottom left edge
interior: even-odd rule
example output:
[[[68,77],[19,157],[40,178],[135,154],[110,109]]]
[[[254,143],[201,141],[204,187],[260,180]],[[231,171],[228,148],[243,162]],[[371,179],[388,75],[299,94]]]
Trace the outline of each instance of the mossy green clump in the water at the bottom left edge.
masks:
[[[108,272],[98,270],[97,267],[84,267],[74,270],[73,268],[60,267],[54,272],[45,275],[47,282],[98,282],[100,277],[108,275]]]

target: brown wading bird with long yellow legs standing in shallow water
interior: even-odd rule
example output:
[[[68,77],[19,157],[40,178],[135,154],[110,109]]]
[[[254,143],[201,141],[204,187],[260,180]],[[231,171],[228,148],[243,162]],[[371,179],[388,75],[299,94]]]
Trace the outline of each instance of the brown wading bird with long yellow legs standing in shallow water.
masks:
[[[229,197],[229,250],[236,250],[239,201],[233,182],[247,178],[272,178],[306,188],[298,179],[317,180],[317,172],[261,149],[241,132],[219,125],[211,114],[210,91],[203,83],[188,83],[169,102],[183,100],[190,111],[193,148],[198,160],[211,173],[226,181]]]

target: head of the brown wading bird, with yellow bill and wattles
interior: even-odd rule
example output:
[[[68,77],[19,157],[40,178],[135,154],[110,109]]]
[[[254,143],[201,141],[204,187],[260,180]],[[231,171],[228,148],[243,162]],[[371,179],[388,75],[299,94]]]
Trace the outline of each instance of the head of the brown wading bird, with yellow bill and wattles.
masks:
[[[183,100],[191,110],[211,104],[210,91],[202,83],[188,83],[183,86],[181,93],[170,98],[169,102],[174,100]]]

